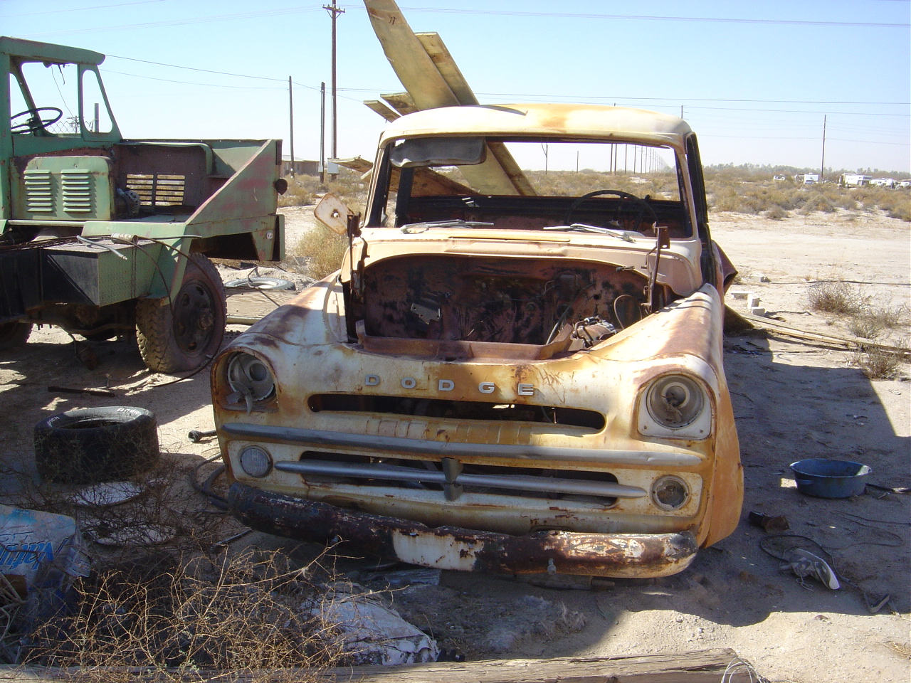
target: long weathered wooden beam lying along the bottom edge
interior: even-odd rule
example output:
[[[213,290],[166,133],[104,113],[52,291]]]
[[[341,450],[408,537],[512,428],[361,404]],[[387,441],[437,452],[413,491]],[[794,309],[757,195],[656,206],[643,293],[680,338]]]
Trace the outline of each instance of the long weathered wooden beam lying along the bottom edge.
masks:
[[[103,674],[132,674],[136,681],[313,680],[318,683],[751,683],[759,677],[732,649],[702,650],[681,655],[638,657],[566,657],[554,659],[490,659],[402,667],[334,668],[310,671],[156,672],[149,669],[98,668]],[[0,667],[0,683],[47,683],[72,677],[79,669]]]

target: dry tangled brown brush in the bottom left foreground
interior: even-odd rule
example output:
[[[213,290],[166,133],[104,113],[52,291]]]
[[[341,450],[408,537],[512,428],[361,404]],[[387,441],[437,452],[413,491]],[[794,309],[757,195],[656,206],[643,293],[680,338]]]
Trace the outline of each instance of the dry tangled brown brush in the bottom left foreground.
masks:
[[[312,568],[256,550],[113,564],[77,584],[75,613],[39,629],[26,663],[78,668],[72,679],[87,682],[135,680],[136,667],[164,681],[209,679],[205,669],[230,672],[220,680],[265,679],[268,669],[314,680],[340,648],[301,609],[320,591]]]

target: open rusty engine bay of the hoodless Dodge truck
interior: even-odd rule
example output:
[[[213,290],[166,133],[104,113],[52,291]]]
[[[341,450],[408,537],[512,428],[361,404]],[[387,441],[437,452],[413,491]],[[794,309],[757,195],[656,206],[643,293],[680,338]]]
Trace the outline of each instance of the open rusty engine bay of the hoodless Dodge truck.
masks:
[[[611,263],[423,254],[366,268],[347,320],[370,337],[586,345],[640,321],[648,301],[647,274]]]

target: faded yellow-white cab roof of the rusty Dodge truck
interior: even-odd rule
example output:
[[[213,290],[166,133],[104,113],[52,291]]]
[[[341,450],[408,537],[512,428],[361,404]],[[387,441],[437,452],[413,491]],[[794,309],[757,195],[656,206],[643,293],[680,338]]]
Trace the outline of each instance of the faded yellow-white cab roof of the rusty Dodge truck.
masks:
[[[680,117],[644,109],[576,104],[506,104],[425,109],[396,118],[382,142],[440,134],[617,138],[682,149],[691,133]]]

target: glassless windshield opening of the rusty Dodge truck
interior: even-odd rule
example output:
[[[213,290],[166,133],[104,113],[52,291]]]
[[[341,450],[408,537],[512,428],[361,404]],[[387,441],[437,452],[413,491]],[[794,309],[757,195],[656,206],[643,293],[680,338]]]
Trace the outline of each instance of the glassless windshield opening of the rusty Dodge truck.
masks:
[[[671,148],[579,140],[413,138],[385,153],[373,225],[589,229],[691,237]]]

